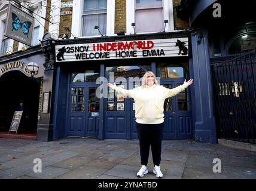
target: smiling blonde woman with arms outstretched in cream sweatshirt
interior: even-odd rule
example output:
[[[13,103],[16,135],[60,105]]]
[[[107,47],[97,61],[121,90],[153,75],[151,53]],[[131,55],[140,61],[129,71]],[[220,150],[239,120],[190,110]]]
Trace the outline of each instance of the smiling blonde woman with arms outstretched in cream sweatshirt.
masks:
[[[151,71],[146,72],[143,76],[142,85],[133,90],[124,90],[115,84],[108,83],[109,88],[117,91],[118,94],[123,94],[123,96],[132,97],[135,101],[136,128],[138,131],[142,165],[137,173],[138,177],[144,177],[144,174],[148,173],[147,164],[150,146],[154,163],[153,172],[157,178],[163,177],[160,170],[160,162],[164,127],[164,100],[168,97],[176,96],[176,94],[184,91],[192,83],[193,79],[187,82],[185,80],[184,84],[168,89],[159,85],[156,76]]]

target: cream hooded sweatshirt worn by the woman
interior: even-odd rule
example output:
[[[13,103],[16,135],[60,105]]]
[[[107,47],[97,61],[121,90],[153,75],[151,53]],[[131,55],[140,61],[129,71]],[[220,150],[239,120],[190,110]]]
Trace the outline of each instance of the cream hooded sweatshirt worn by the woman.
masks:
[[[135,118],[139,124],[161,124],[164,119],[163,104],[168,97],[185,90],[183,85],[176,88],[168,89],[161,85],[153,87],[138,87],[133,90],[124,90],[114,86],[113,89],[125,97],[132,97],[135,101]]]

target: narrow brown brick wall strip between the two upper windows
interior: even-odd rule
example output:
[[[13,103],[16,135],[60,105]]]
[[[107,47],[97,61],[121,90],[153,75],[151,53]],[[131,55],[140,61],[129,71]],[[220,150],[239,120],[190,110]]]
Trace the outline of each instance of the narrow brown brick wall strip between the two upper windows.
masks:
[[[115,33],[126,33],[126,1],[115,0]]]

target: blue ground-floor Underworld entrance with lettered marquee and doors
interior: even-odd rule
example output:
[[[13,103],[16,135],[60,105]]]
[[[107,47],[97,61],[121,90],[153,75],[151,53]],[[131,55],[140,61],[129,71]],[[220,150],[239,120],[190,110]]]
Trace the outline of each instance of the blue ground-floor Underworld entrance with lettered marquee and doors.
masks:
[[[190,78],[185,32],[55,41],[53,139],[136,139],[135,106],[106,82],[136,88],[145,72],[174,88]],[[164,138],[193,138],[191,90],[164,102]]]

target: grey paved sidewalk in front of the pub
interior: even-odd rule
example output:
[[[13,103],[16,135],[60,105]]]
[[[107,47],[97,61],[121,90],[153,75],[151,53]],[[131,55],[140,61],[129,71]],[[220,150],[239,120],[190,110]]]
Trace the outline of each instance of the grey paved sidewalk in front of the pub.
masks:
[[[42,160],[42,172],[33,172],[33,159]],[[221,173],[214,173],[215,158]],[[0,178],[132,178],[140,168],[138,140],[65,138],[57,141],[0,138]],[[256,152],[220,144],[163,140],[163,178],[256,178]],[[150,154],[149,173],[155,179]]]

